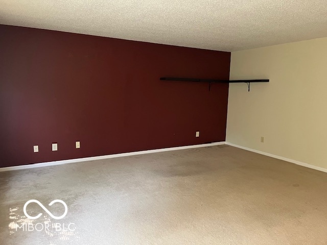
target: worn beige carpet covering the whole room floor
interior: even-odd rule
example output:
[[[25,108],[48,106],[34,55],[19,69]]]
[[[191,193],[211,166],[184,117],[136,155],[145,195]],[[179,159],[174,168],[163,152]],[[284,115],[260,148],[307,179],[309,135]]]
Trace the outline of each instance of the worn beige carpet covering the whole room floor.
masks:
[[[327,244],[327,174],[226,145],[8,171],[0,190],[6,245]],[[28,219],[31,199],[67,215]]]

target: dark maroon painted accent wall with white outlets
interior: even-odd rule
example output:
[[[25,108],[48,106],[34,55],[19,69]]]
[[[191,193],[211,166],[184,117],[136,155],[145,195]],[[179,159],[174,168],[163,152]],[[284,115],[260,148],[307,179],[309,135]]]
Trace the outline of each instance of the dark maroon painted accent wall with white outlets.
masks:
[[[228,84],[159,78],[228,79],[229,64],[228,52],[0,25],[0,167],[224,141]]]

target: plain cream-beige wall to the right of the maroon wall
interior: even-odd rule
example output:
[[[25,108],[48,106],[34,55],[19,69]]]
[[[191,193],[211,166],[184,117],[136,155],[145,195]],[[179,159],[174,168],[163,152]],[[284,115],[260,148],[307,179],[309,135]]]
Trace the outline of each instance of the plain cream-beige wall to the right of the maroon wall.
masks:
[[[226,141],[327,168],[327,38],[231,53]],[[260,137],[265,142],[260,142]]]

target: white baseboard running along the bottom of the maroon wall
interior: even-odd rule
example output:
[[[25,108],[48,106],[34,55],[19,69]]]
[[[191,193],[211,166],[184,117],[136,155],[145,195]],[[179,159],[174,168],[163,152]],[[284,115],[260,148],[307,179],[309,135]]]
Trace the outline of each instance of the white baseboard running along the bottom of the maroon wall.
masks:
[[[199,148],[199,147],[221,145],[221,144],[225,144],[225,141],[213,142],[213,143],[207,143],[207,144],[195,144],[195,145],[178,146],[178,147],[172,147],[172,148],[163,148],[163,149],[147,150],[147,151],[139,151],[139,152],[128,152],[128,153],[112,154],[112,155],[97,156],[97,157],[85,157],[85,158],[76,158],[76,159],[69,159],[69,160],[53,161],[53,162],[42,162],[42,163],[12,166],[12,167],[1,167],[0,172],[10,171],[10,170],[17,170],[17,169],[34,168],[34,167],[45,167],[45,166],[61,165],[61,164],[74,163],[74,162],[94,161],[94,160],[101,160],[101,159],[115,158],[115,157],[134,156],[134,155],[149,154],[149,153],[156,153],[156,152],[177,151],[177,150]]]

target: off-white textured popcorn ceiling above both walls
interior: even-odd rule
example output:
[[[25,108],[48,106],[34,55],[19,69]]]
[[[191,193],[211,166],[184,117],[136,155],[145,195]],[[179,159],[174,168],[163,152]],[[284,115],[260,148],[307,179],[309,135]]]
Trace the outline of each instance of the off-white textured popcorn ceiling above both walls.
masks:
[[[0,23],[238,51],[327,37],[327,0],[0,0]]]

